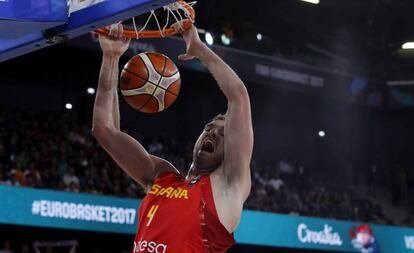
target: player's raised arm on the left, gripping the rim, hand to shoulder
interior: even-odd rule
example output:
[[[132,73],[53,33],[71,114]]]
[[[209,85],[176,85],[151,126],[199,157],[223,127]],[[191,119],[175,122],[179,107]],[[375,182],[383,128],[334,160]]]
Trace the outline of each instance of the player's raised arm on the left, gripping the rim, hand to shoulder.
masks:
[[[119,24],[112,26],[108,36],[100,36],[99,41],[103,60],[93,109],[92,132],[115,162],[147,188],[157,168],[165,166],[165,161],[148,154],[137,140],[119,128],[118,64],[121,55],[128,49],[129,40],[122,38],[122,25]]]

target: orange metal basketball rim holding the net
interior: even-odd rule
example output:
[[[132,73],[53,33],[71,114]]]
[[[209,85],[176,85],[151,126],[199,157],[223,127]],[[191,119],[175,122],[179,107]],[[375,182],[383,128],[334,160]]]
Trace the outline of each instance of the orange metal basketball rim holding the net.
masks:
[[[193,7],[187,4],[187,2],[185,2],[184,0],[178,0],[177,3],[179,3],[183,8],[187,10],[189,17],[186,20],[184,20],[184,22],[182,23],[182,27],[184,30],[188,30],[190,29],[191,25],[193,24],[193,21],[195,20],[195,11]],[[109,29],[99,28],[95,30],[94,32],[97,34],[101,34],[101,35],[108,35]],[[170,28],[163,29],[162,32],[161,30],[144,30],[144,31],[138,31],[138,32],[136,32],[135,30],[124,30],[123,35],[126,38],[132,38],[132,39],[136,39],[136,38],[153,39],[153,38],[173,36],[173,35],[176,35],[177,33],[179,32],[176,31],[174,28],[170,27]]]

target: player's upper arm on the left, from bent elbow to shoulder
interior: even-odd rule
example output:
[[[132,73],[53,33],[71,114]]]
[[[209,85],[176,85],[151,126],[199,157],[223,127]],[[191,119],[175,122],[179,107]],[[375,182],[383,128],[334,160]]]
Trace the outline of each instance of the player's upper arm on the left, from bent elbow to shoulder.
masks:
[[[118,166],[144,188],[148,187],[154,179],[155,169],[145,148],[121,131],[106,131],[102,135],[96,135],[99,143]]]

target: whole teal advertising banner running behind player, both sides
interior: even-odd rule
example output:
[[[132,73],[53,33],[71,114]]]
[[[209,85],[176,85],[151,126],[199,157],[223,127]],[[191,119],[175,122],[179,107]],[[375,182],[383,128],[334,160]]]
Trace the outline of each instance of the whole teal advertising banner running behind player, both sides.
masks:
[[[135,234],[140,201],[0,186],[0,223]],[[338,252],[414,252],[414,229],[244,211],[238,243]]]

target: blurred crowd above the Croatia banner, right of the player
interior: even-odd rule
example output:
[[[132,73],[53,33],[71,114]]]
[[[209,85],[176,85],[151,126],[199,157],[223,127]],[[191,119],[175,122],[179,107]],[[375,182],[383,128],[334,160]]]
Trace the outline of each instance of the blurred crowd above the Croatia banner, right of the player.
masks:
[[[392,224],[379,204],[344,186],[323,183],[302,166],[281,161],[274,167],[253,164],[248,209],[341,220]]]

